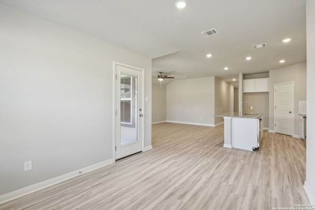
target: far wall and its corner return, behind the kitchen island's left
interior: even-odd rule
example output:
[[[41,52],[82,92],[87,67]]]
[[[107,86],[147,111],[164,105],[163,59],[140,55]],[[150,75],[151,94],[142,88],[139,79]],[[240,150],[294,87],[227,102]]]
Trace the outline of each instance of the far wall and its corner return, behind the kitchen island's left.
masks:
[[[214,126],[223,121],[214,114],[233,112],[233,97],[219,77],[175,80],[166,86],[166,121]]]

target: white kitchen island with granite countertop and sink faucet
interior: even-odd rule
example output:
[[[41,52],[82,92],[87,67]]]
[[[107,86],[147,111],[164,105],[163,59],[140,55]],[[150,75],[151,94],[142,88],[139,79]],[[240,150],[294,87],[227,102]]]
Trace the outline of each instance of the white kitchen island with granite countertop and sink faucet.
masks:
[[[224,119],[224,144],[225,148],[242,150],[256,150],[262,137],[263,114],[253,113],[223,113],[214,115]]]

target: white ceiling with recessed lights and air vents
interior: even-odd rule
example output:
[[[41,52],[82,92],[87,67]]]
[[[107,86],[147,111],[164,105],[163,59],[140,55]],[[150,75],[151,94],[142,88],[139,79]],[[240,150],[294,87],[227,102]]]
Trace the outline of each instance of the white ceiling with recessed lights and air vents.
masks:
[[[0,0],[152,58],[153,75],[162,71],[175,79],[218,76],[232,82],[240,72],[306,62],[306,0],[187,1],[180,10],[176,0]],[[213,28],[219,34],[201,34]],[[291,42],[283,43],[286,37]],[[267,47],[252,49],[261,43]]]

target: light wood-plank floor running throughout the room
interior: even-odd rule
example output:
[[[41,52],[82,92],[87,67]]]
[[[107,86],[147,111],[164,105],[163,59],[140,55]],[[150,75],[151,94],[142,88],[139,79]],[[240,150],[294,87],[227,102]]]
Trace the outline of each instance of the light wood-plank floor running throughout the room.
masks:
[[[308,204],[300,139],[264,132],[256,151],[223,148],[223,125],[152,125],[153,150],[0,205],[56,210],[272,210]]]

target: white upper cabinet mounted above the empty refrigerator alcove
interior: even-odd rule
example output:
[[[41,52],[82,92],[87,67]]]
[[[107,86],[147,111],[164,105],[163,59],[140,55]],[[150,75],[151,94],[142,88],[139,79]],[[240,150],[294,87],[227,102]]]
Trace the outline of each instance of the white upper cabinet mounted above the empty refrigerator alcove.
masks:
[[[243,92],[269,92],[269,78],[243,80]]]

